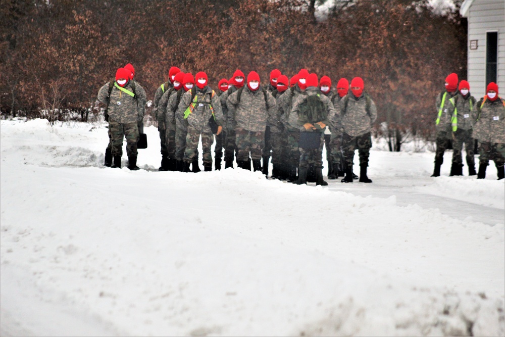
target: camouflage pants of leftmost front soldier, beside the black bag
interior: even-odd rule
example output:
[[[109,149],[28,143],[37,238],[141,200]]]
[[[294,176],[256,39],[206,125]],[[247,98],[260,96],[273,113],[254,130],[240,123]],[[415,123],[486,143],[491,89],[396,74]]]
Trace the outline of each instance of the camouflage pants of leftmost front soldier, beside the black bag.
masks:
[[[123,155],[123,137],[126,137],[126,154],[137,157],[138,125],[119,123],[109,118],[109,135],[111,138],[111,153],[113,156]]]

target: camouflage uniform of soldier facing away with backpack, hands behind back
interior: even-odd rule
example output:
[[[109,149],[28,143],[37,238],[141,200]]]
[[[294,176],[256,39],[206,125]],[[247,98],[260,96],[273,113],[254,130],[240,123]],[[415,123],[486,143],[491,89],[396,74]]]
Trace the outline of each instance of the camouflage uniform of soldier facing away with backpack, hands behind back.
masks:
[[[319,132],[321,135],[321,139],[319,142],[320,143],[319,149],[299,148],[300,157],[299,157],[298,167],[308,168],[309,166],[314,165],[315,168],[322,168],[323,167],[323,144],[324,144],[324,133],[323,132],[324,132],[324,129],[321,131],[307,131],[304,127],[304,124],[306,124],[306,123],[314,124],[317,122],[323,122],[324,124],[328,125],[328,120],[335,118],[334,116],[336,114],[336,111],[335,111],[330,99],[328,97],[326,97],[325,94],[322,94],[318,87],[314,87],[314,86],[308,87],[305,92],[307,93],[307,95],[298,95],[296,101],[293,104],[293,109],[291,111],[291,114],[293,116],[297,117],[296,122],[298,125],[298,130],[300,132]],[[326,114],[325,114],[326,118],[323,118],[322,117],[323,114],[321,113],[321,116],[316,118],[317,120],[310,120],[309,116],[305,116],[305,115],[299,113],[299,110],[298,110],[299,105],[302,102],[304,102],[304,100],[307,99],[308,96],[312,96],[312,95],[318,95],[321,102],[324,103],[324,105],[326,107]]]

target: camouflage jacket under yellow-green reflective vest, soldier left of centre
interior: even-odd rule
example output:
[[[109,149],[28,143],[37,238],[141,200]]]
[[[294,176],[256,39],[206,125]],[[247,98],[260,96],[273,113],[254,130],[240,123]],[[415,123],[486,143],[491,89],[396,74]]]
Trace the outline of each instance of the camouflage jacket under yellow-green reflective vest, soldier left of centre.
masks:
[[[216,93],[212,95],[212,88],[209,86],[203,89],[195,89],[195,99],[191,99],[191,90],[188,90],[182,94],[181,102],[177,107],[176,118],[180,121],[181,119],[186,119],[187,125],[199,130],[200,132],[211,132],[211,127],[209,126],[209,119],[212,117],[212,109],[214,110],[214,118],[216,123],[223,126],[223,112],[221,111],[221,102]],[[194,109],[184,118],[186,109],[194,104]],[[179,125],[179,124],[177,124]]]

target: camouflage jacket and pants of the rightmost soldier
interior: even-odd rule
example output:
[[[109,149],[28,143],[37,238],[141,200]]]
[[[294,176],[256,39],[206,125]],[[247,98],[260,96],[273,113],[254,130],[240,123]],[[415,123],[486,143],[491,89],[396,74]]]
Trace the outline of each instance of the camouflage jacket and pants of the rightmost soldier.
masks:
[[[498,97],[494,102],[489,99],[482,102],[483,99],[477,103],[473,129],[479,140],[479,164],[487,166],[493,160],[496,168],[500,168],[505,164],[505,100]]]

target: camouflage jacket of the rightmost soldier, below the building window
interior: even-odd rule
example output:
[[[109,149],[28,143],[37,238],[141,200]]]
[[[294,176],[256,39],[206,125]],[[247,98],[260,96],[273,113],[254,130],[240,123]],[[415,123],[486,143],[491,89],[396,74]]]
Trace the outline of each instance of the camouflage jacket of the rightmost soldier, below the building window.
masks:
[[[479,141],[505,143],[505,100],[498,98],[494,102],[484,98],[477,103],[476,122],[473,137]],[[482,108],[481,108],[482,106]]]

